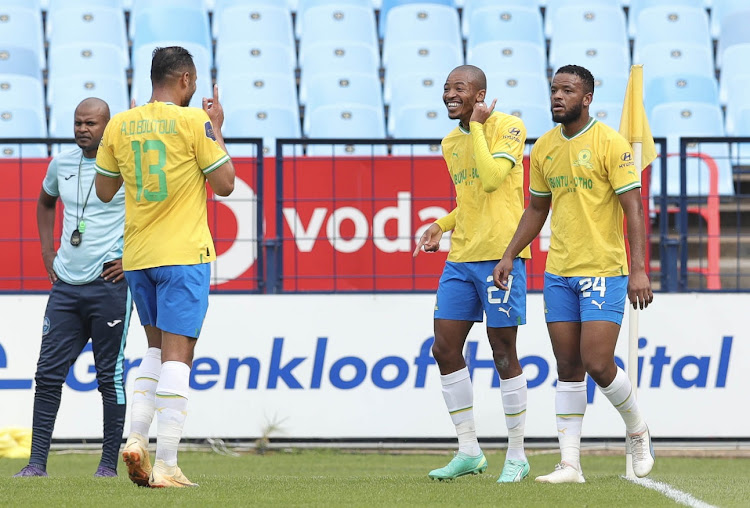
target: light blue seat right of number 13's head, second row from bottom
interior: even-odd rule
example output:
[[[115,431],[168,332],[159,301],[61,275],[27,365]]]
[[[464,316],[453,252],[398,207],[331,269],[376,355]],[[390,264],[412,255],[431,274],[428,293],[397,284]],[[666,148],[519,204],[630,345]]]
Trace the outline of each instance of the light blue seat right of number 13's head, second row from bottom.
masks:
[[[219,86],[225,111],[248,106],[299,107],[293,73],[236,72]]]

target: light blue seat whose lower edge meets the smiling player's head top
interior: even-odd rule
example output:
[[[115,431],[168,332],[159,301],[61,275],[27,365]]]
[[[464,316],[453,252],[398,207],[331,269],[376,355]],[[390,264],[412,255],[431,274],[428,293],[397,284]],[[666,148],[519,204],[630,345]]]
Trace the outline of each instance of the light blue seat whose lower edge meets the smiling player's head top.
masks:
[[[525,41],[491,41],[477,44],[466,51],[466,63],[485,72],[513,69],[519,72],[547,73],[544,46]]]

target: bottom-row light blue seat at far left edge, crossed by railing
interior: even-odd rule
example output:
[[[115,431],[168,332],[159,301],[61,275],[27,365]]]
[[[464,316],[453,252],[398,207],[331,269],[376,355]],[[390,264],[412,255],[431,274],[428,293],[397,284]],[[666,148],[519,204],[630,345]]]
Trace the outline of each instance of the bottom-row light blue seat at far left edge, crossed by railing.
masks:
[[[38,110],[0,106],[0,158],[47,157],[47,145],[7,144],[3,138],[46,138],[47,122]]]

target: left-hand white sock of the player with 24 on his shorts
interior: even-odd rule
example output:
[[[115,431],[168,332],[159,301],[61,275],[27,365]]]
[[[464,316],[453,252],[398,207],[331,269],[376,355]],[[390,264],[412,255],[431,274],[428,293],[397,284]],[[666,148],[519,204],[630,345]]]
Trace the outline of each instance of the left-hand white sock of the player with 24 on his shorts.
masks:
[[[586,381],[558,381],[555,394],[560,459],[581,470],[581,427],[586,412]]]

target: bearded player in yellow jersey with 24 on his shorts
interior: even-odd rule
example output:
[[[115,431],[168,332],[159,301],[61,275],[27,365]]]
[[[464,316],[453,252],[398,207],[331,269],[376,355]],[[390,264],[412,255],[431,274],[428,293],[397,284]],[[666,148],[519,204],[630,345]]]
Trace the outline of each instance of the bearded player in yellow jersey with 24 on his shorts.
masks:
[[[539,234],[551,205],[544,311],[557,360],[561,461],[552,473],[537,477],[545,483],[585,481],[580,446],[586,373],[625,422],[635,474],[646,476],[654,465],[648,427],[628,376],[614,361],[626,296],[634,308],[647,307],[654,297],[645,267],[640,175],[628,141],[589,116],[593,95],[594,78],[583,67],[566,65],[555,73],[552,119],[562,125],[540,137],[531,150],[531,202],[493,271],[495,285],[507,288],[513,260]]]

